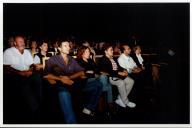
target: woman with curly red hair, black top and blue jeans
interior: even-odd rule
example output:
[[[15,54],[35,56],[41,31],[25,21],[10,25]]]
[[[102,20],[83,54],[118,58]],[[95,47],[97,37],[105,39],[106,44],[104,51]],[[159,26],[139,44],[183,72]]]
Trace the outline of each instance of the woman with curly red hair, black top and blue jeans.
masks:
[[[103,87],[103,91],[107,92],[107,103],[110,110],[113,110],[113,97],[112,87],[108,82],[108,77],[105,74],[101,74],[98,70],[96,63],[90,58],[90,48],[82,46],[77,52],[77,61],[81,67],[85,69],[87,76],[87,82],[89,81],[100,81]]]

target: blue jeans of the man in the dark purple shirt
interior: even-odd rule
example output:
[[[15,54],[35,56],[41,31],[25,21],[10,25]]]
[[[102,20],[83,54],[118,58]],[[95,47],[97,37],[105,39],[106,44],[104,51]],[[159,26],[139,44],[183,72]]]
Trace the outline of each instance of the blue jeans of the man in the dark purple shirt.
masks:
[[[77,123],[72,107],[71,94],[68,90],[67,85],[58,83],[56,87],[58,89],[59,101],[66,123],[68,124]],[[102,92],[101,83],[99,81],[91,81],[91,82],[87,81],[85,85],[82,85],[80,83],[78,84],[74,83],[71,89],[73,90],[78,88],[82,88],[82,91],[91,94],[89,96],[89,102],[85,105],[85,108],[94,111],[97,107],[97,103],[99,102],[99,98]]]

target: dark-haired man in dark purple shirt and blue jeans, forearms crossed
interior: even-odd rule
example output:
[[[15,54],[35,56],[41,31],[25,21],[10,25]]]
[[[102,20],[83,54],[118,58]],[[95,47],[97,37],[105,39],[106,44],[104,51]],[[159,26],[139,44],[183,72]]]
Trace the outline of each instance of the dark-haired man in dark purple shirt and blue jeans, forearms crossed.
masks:
[[[71,90],[80,88],[84,92],[89,92],[89,102],[85,105],[83,113],[92,115],[99,101],[102,86],[100,83],[91,82],[83,85],[81,82],[76,82],[77,79],[82,79],[85,76],[84,69],[78,65],[74,58],[68,55],[70,51],[69,41],[63,40],[58,42],[58,46],[60,54],[52,56],[46,62],[44,78],[58,89],[59,101],[65,122],[77,123],[69,88]]]

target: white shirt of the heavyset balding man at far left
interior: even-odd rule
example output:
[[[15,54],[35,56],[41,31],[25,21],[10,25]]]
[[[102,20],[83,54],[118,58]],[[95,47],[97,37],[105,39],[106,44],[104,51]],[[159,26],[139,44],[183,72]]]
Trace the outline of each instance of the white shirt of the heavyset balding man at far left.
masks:
[[[3,64],[19,71],[29,70],[30,65],[33,64],[33,57],[26,49],[21,54],[18,49],[11,47],[3,53]]]

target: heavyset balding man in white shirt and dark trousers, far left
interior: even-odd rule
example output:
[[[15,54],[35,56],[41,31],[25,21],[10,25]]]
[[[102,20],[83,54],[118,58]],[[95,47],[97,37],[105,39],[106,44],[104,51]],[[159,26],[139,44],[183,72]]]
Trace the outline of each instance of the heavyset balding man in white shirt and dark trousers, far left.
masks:
[[[3,67],[4,87],[7,89],[8,98],[10,98],[8,99],[9,112],[11,115],[16,115],[14,120],[19,117],[22,117],[22,121],[31,120],[39,108],[42,84],[40,74],[33,72],[35,68],[33,58],[30,52],[25,49],[22,36],[16,36],[14,47],[5,50]]]

